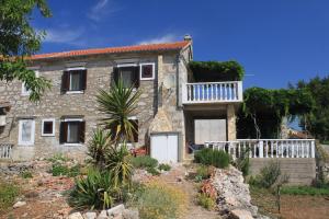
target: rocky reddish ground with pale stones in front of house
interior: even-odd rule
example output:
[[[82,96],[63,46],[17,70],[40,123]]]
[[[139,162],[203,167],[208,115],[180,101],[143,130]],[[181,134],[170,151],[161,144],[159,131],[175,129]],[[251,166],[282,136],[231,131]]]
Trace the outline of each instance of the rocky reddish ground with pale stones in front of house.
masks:
[[[73,214],[66,201],[65,192],[73,185],[73,177],[53,176],[49,173],[52,163],[48,161],[33,161],[27,163],[1,164],[1,178],[10,181],[22,187],[22,196],[15,205],[0,216],[0,219],[8,218],[55,218],[55,219],[82,219],[82,218],[115,218],[102,214],[86,212]],[[31,171],[32,178],[23,178],[20,173]],[[163,172],[160,176],[151,176],[143,170],[138,170],[134,180],[149,181],[157,180],[167,182],[181,188],[189,194],[189,209],[183,219],[220,219],[220,218],[262,218],[257,207],[250,204],[248,185],[243,183],[243,177],[239,171],[232,166],[228,170],[216,170],[212,183],[218,193],[218,205],[214,210],[206,210],[196,204],[197,184],[193,180],[188,180],[188,175],[195,171],[195,166],[177,164],[171,171]],[[128,211],[124,207],[120,214],[132,215],[131,218],[138,218],[136,212]],[[83,215],[84,214],[84,215]]]

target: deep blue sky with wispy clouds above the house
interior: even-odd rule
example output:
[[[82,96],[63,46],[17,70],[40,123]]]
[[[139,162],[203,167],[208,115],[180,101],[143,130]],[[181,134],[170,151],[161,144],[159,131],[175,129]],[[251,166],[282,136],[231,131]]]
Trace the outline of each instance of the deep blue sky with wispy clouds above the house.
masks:
[[[193,37],[195,60],[239,61],[245,88],[329,72],[326,0],[48,0],[42,53]]]

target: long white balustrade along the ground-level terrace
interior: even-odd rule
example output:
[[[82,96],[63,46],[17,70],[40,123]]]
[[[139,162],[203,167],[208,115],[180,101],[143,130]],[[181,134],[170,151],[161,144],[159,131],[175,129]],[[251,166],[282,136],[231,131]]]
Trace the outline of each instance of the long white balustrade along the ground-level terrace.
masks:
[[[225,150],[234,158],[315,158],[315,139],[237,139],[206,141],[206,148]]]

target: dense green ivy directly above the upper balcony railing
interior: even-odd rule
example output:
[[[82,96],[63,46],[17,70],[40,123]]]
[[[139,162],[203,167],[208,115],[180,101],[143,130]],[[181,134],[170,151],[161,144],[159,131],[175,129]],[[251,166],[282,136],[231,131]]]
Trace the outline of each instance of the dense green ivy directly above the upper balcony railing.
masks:
[[[196,82],[240,81],[245,69],[237,61],[190,61],[189,68]]]

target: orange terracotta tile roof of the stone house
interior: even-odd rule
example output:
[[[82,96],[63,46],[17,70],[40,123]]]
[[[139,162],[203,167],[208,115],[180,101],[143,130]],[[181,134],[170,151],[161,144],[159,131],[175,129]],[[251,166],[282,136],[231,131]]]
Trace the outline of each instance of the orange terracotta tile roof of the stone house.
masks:
[[[120,54],[120,53],[132,53],[132,51],[156,51],[156,50],[175,50],[182,49],[190,44],[188,41],[163,43],[163,44],[147,44],[147,45],[135,45],[135,46],[122,46],[122,47],[109,47],[109,48],[91,48],[82,50],[60,51],[53,54],[38,54],[32,56],[30,59],[48,59],[48,58],[65,58],[73,56],[88,56],[99,54]]]

